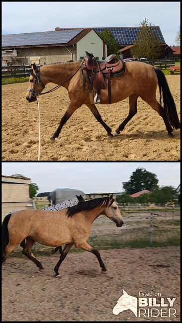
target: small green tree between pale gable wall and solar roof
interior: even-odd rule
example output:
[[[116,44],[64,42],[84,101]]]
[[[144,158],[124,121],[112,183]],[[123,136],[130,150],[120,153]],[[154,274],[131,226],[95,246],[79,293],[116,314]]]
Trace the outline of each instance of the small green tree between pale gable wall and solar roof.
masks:
[[[113,36],[112,31],[106,29],[101,33],[98,33],[98,35],[107,45],[107,55],[116,54],[116,56],[119,57],[119,53],[117,52],[120,48],[120,45]]]

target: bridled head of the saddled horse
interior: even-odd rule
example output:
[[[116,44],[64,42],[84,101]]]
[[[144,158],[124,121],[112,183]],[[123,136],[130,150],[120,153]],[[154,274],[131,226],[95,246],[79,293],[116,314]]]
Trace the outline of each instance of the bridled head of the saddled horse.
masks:
[[[36,100],[36,96],[44,89],[44,84],[40,81],[40,68],[35,63],[31,64],[32,71],[29,78],[29,88],[27,89],[26,99],[28,102]]]

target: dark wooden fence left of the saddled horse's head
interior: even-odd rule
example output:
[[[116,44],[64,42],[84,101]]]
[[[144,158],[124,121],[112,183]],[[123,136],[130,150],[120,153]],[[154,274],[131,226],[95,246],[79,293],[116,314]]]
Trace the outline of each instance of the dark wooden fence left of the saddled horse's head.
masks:
[[[26,77],[29,77],[30,72],[31,72],[31,65],[1,67],[2,79],[26,78]]]

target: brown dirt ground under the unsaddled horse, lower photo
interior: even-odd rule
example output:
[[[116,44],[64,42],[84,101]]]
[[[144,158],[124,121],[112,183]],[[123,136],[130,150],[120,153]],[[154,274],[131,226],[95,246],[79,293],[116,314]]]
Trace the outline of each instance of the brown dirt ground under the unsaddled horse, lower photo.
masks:
[[[93,254],[69,253],[58,278],[53,276],[58,254],[38,257],[45,268],[41,273],[26,257],[7,258],[2,266],[2,321],[180,321],[180,247],[100,254],[106,274]],[[165,300],[176,297],[176,318],[136,318],[130,310],[113,315],[123,289],[135,297],[139,292],[152,292],[153,297],[161,293]]]

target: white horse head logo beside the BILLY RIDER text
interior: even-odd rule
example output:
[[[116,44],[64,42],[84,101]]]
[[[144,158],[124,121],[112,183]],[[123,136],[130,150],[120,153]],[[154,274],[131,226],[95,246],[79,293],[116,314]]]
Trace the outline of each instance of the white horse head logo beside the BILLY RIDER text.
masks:
[[[137,317],[137,297],[128,295],[123,289],[123,295],[118,299],[112,313],[118,315],[126,310],[131,310]]]

